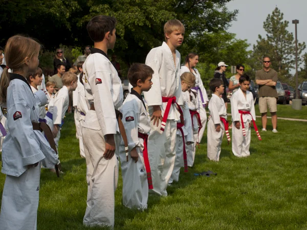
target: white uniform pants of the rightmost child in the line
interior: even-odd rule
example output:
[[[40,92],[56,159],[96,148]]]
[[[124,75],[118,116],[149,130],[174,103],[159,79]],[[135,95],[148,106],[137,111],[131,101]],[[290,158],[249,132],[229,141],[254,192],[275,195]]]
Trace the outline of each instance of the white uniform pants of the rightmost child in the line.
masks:
[[[249,123],[249,121],[244,122],[246,136],[243,135],[241,122],[240,129],[235,128],[234,123],[232,124],[232,152],[235,156],[245,157],[250,155],[251,128],[249,127]]]

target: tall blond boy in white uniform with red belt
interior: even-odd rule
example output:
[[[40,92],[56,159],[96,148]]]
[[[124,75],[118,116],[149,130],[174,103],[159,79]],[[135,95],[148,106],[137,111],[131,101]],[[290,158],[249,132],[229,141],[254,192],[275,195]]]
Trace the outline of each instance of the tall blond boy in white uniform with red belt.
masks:
[[[148,156],[151,166],[153,193],[167,196],[166,188],[176,158],[176,131],[180,113],[176,102],[183,104],[180,82],[180,53],[185,28],[179,20],[168,20],[164,25],[166,42],[153,48],[145,64],[155,72],[152,88],[144,92],[151,116],[148,137]]]

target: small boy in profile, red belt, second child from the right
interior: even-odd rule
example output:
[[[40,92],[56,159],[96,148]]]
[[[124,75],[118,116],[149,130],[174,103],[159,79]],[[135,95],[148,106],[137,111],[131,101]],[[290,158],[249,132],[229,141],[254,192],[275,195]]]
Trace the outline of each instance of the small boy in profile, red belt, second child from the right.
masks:
[[[213,78],[210,81],[209,87],[213,94],[208,105],[210,118],[207,125],[207,157],[209,160],[218,162],[220,160],[221,145],[225,131],[227,140],[230,141],[227,109],[223,98],[221,98],[225,87],[223,81],[217,78]]]

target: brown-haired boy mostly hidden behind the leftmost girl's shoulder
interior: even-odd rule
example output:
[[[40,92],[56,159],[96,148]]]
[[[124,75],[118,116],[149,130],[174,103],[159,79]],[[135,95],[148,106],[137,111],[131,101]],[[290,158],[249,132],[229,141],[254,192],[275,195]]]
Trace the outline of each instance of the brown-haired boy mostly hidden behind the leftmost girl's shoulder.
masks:
[[[28,73],[27,81],[29,82],[33,94],[36,93],[39,89],[38,87],[42,82],[42,70],[40,67],[37,67],[35,73]],[[46,116],[45,106],[39,107],[39,122],[43,122]]]

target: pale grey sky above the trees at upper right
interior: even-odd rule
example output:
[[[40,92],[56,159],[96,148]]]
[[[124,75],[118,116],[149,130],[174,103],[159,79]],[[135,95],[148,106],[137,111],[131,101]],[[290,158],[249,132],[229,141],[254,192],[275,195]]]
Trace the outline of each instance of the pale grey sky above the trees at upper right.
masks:
[[[276,6],[283,13],[283,20],[289,21],[288,31],[292,32],[293,36],[295,36],[295,25],[292,24],[292,20],[299,20],[297,39],[299,42],[307,43],[306,0],[233,0],[227,4],[227,7],[229,10],[239,10],[239,13],[237,20],[232,22],[228,31],[236,34],[238,39],[247,39],[252,49],[252,45],[258,39],[258,34],[266,37],[263,28],[264,21],[268,14],[272,14]]]

